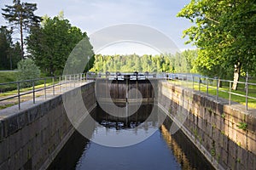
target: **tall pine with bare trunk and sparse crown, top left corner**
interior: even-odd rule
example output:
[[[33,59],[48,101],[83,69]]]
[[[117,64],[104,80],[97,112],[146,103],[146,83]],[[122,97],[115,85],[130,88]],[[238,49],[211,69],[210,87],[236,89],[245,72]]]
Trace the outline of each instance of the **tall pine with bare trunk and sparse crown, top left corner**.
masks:
[[[3,18],[9,21],[12,28],[20,32],[21,59],[24,59],[24,34],[29,31],[31,26],[38,25],[41,18],[34,14],[36,3],[20,3],[20,0],[14,0],[13,5],[5,5]]]

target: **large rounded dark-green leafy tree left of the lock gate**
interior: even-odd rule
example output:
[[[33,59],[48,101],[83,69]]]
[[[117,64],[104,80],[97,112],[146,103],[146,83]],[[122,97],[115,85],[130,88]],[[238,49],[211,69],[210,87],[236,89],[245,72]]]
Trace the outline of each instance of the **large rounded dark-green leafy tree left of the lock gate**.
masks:
[[[31,58],[42,71],[51,76],[61,75],[69,54],[82,39],[83,42],[79,44],[81,47],[76,48],[85,48],[86,53],[84,50],[76,50],[73,55],[84,56],[86,59],[94,55],[86,32],[83,33],[78,27],[71,26],[69,20],[65,20],[63,16],[55,16],[52,19],[44,17],[42,23],[42,26],[33,27],[27,38],[27,49],[32,54]],[[92,57],[86,66],[87,70],[93,62]],[[70,64],[75,68],[75,65],[83,63],[77,58]]]

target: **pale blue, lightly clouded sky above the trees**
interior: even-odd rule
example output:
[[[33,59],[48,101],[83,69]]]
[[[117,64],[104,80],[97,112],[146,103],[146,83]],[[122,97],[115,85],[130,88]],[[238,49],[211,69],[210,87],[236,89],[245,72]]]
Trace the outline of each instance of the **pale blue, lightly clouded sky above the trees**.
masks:
[[[12,4],[13,0],[1,0],[0,8]],[[177,13],[189,3],[189,0],[27,0],[37,3],[35,14],[49,17],[58,15],[62,10],[64,16],[73,26],[78,26],[90,36],[108,26],[120,24],[137,24],[149,26],[160,31],[177,45],[180,51],[195,48],[185,45],[183,30],[192,26],[189,20],[177,18]],[[2,11],[1,11],[2,13]],[[7,25],[0,17],[0,26]],[[103,48],[101,54],[158,54],[153,48],[144,44],[119,42]]]

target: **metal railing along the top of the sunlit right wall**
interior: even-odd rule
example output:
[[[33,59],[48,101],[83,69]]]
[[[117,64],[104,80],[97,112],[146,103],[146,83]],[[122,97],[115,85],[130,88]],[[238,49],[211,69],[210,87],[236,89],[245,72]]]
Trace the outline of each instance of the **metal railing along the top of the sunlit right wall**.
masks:
[[[207,96],[210,94],[210,90],[213,89],[213,92],[215,91],[215,93],[212,93],[211,91],[211,94],[216,97],[217,101],[219,99],[220,92],[227,93],[229,105],[231,105],[232,95],[239,96],[242,99],[244,99],[246,110],[248,110],[248,99],[253,99],[256,102],[256,97],[250,95],[254,93],[249,93],[249,89],[250,89],[249,87],[255,87],[252,89],[256,90],[256,83],[248,82],[248,78],[246,78],[246,82],[236,82],[238,87],[240,88],[243,87],[242,93],[238,93],[238,91],[232,90],[232,85],[234,81],[230,81],[230,80],[202,77],[200,75],[173,74],[173,73],[167,73],[166,79],[174,80],[174,83],[179,82],[175,84],[181,85],[184,88],[191,88],[199,92],[204,92],[207,94]],[[205,90],[203,90],[203,88],[205,88]]]

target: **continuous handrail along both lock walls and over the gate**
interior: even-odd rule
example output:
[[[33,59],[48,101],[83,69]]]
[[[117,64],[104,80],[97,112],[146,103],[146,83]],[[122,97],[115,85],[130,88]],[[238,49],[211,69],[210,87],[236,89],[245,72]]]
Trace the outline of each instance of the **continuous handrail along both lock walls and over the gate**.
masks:
[[[5,100],[8,100],[8,99],[15,99],[17,98],[18,99],[18,105],[19,105],[19,110],[20,110],[20,97],[21,96],[24,96],[26,94],[32,94],[32,99],[33,99],[33,103],[35,104],[35,101],[36,101],[36,93],[37,92],[40,92],[40,91],[44,91],[44,98],[46,99],[47,98],[47,94],[46,94],[46,90],[49,89],[49,88],[52,88],[52,94],[55,95],[55,87],[60,87],[61,91],[62,91],[62,87],[64,85],[67,85],[69,84],[69,88],[72,88],[72,87],[76,87],[76,82],[84,82],[84,81],[88,81],[88,80],[96,80],[96,79],[101,79],[101,78],[115,78],[117,79],[118,77],[122,77],[123,79],[127,79],[127,78],[130,78],[130,77],[125,77],[125,75],[130,75],[131,77],[136,77],[136,80],[141,80],[143,78],[146,78],[146,79],[166,79],[166,80],[173,80],[173,79],[176,79],[178,81],[181,81],[182,82],[182,86],[185,87],[185,88],[191,88],[193,90],[198,90],[198,91],[201,91],[201,88],[204,87],[204,88],[207,88],[207,96],[209,95],[209,89],[214,89],[216,90],[216,100],[218,100],[218,93],[219,92],[224,92],[224,93],[227,93],[229,94],[229,105],[231,105],[231,94],[232,95],[236,95],[236,96],[240,96],[240,97],[243,97],[245,98],[246,100],[246,110],[248,110],[248,99],[255,99],[255,97],[253,96],[250,96],[249,93],[248,93],[248,86],[256,86],[256,83],[252,83],[252,82],[237,82],[238,84],[244,84],[245,86],[245,94],[238,94],[238,93],[235,93],[235,92],[232,92],[231,91],[231,84],[234,82],[234,81],[230,81],[230,80],[223,80],[223,79],[218,79],[218,78],[209,78],[209,77],[201,77],[201,76],[195,76],[195,75],[185,75],[185,74],[177,74],[177,73],[162,73],[162,74],[157,74],[157,73],[152,73],[152,74],[148,74],[148,73],[137,73],[137,72],[134,72],[134,73],[119,73],[119,74],[115,74],[115,73],[108,73],[108,74],[91,74],[91,72],[88,72],[86,74],[84,73],[79,73],[79,74],[73,74],[73,75],[63,75],[63,76],[60,76],[60,77],[44,77],[44,78],[37,78],[37,79],[32,79],[32,80],[24,80],[24,81],[19,81],[19,82],[3,82],[3,83],[0,83],[0,87],[3,86],[3,85],[10,85],[10,84],[16,84],[17,85],[17,94],[15,95],[11,95],[11,96],[8,96],[6,98],[0,98],[0,102],[1,101],[5,101]],[[140,77],[140,78],[139,78]],[[173,78],[174,77],[174,78]],[[51,82],[52,83],[51,85],[47,85],[46,84],[46,80],[49,80],[51,79]],[[44,87],[43,88],[38,88],[36,89],[36,85],[35,85],[35,82],[37,81],[42,81],[44,80]],[[132,79],[133,80],[133,79]],[[216,84],[213,84],[213,82],[216,82]],[[28,90],[26,92],[22,92],[21,91],[21,87],[20,87],[20,84],[21,83],[24,83],[24,82],[32,82],[32,88],[31,90]],[[187,82],[187,84],[184,84],[184,82]],[[228,90],[224,90],[224,89],[221,89],[219,87],[219,83],[220,82],[228,82],[229,83],[229,89]],[[190,84],[188,84],[190,83]],[[191,84],[192,83],[192,84]],[[198,84],[198,89],[195,89],[195,84]],[[191,87],[192,86],[192,87]],[[67,87],[66,87],[67,88]]]

